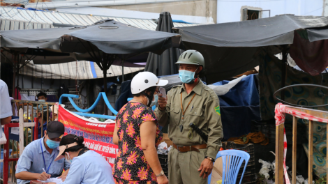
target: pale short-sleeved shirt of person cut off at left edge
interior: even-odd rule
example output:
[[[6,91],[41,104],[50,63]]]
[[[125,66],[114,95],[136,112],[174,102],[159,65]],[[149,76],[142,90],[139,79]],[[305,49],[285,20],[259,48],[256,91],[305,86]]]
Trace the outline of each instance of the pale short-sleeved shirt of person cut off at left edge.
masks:
[[[7,118],[13,116],[11,111],[11,102],[8,92],[8,86],[0,79],[0,118]],[[2,137],[2,128],[0,128],[0,137]]]

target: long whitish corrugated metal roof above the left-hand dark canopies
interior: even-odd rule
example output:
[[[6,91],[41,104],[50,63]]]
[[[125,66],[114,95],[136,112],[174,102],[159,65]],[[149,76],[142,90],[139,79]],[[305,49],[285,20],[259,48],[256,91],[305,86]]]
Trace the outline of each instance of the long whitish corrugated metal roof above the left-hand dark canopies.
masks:
[[[130,24],[141,29],[156,30],[153,20],[133,19],[123,17],[91,16],[71,13],[56,13],[50,11],[21,10],[13,7],[0,7],[1,30],[36,29],[57,26],[88,26],[104,19],[112,19],[124,24]],[[21,22],[21,23],[20,23]],[[21,24],[21,26],[19,26]],[[173,23],[174,26],[193,26],[197,24]],[[27,28],[27,26],[29,26]]]

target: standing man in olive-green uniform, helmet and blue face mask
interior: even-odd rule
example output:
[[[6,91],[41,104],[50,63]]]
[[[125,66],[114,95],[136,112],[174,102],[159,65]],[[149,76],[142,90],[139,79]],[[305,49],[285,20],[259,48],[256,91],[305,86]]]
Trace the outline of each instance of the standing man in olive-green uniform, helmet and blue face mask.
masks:
[[[223,138],[218,96],[203,84],[204,57],[187,50],[179,56],[182,85],[174,86],[167,98],[159,95],[155,114],[158,123],[169,123],[168,135],[173,147],[168,156],[170,183],[207,183]],[[194,123],[207,141],[189,125]]]

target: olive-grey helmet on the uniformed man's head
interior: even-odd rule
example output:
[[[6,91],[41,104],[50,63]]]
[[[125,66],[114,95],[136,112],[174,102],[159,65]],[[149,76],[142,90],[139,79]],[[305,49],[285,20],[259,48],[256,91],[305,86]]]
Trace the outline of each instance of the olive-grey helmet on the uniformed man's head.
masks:
[[[176,64],[197,65],[205,68],[204,57],[197,50],[186,50],[179,56]]]

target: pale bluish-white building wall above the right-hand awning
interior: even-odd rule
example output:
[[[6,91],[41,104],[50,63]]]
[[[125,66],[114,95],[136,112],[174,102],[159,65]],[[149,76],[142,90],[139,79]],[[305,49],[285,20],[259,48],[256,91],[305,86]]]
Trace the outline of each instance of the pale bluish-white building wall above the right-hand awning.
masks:
[[[217,23],[242,20],[242,10],[271,10],[271,17],[281,14],[324,15],[327,0],[217,0]],[[328,2],[327,2],[328,3]],[[328,7],[327,7],[328,14]],[[269,17],[263,12],[262,18]]]

